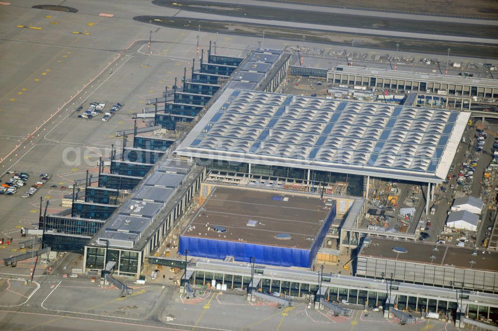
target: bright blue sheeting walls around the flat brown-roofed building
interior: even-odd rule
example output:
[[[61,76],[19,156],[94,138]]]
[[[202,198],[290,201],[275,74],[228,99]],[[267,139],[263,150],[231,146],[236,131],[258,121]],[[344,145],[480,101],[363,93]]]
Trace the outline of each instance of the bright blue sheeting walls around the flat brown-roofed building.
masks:
[[[323,239],[325,238],[335,215],[336,208],[335,204],[333,204],[327,219],[323,222],[322,227],[318,232],[311,250],[181,235],[179,252],[184,252],[185,249],[188,249],[188,255],[220,260],[225,259],[227,255],[231,255],[235,257],[236,261],[241,262],[250,262],[250,259],[254,256],[256,258],[256,263],[309,268],[318,249],[322,246]]]

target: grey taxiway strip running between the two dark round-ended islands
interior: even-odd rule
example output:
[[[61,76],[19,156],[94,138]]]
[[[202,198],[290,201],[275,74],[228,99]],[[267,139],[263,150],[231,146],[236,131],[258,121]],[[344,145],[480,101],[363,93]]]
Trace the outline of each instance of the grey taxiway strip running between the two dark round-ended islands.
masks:
[[[297,28],[297,29],[314,29],[314,30],[326,30],[326,31],[335,31],[335,32],[361,33],[361,34],[370,34],[370,35],[380,35],[384,37],[391,36],[391,37],[416,38],[416,39],[428,39],[428,40],[439,40],[439,41],[498,44],[498,39],[447,36],[442,34],[426,34],[426,33],[400,32],[400,31],[388,31],[388,30],[374,30],[374,29],[353,28],[347,26],[334,26],[334,25],[310,24],[310,23],[299,23],[299,22],[285,22],[278,20],[265,20],[265,19],[256,19],[248,17],[216,15],[216,14],[208,14],[208,13],[193,12],[186,10],[180,10],[175,15],[175,17],[206,19],[206,20],[220,21],[220,22],[233,21],[240,23],[274,25],[274,26]]]

